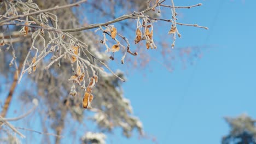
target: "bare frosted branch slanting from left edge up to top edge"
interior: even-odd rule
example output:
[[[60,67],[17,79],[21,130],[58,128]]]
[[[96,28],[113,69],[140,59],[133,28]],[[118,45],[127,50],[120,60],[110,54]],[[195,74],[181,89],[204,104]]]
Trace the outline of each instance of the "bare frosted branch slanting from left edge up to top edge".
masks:
[[[63,9],[63,8],[69,8],[69,7],[74,7],[74,6],[77,6],[79,5],[80,3],[83,3],[83,2],[86,2],[87,0],[82,0],[82,1],[79,1],[79,2],[76,2],[76,3],[72,3],[72,4],[67,4],[67,5],[62,5],[62,6],[56,6],[54,8],[49,8],[49,9],[42,9],[42,10],[38,10],[38,11],[34,11],[32,13],[28,13],[28,14],[24,14],[24,15],[18,15],[18,16],[14,16],[14,17],[11,17],[9,19],[6,19],[6,20],[3,20],[0,22],[0,26],[2,26],[2,24],[4,22],[8,22],[8,21],[11,21],[11,20],[15,20],[15,19],[18,19],[18,18],[21,18],[21,17],[25,17],[25,16],[30,16],[30,15],[35,15],[35,14],[40,14],[40,13],[44,13],[46,11],[52,11],[52,10],[57,10],[57,9]]]

